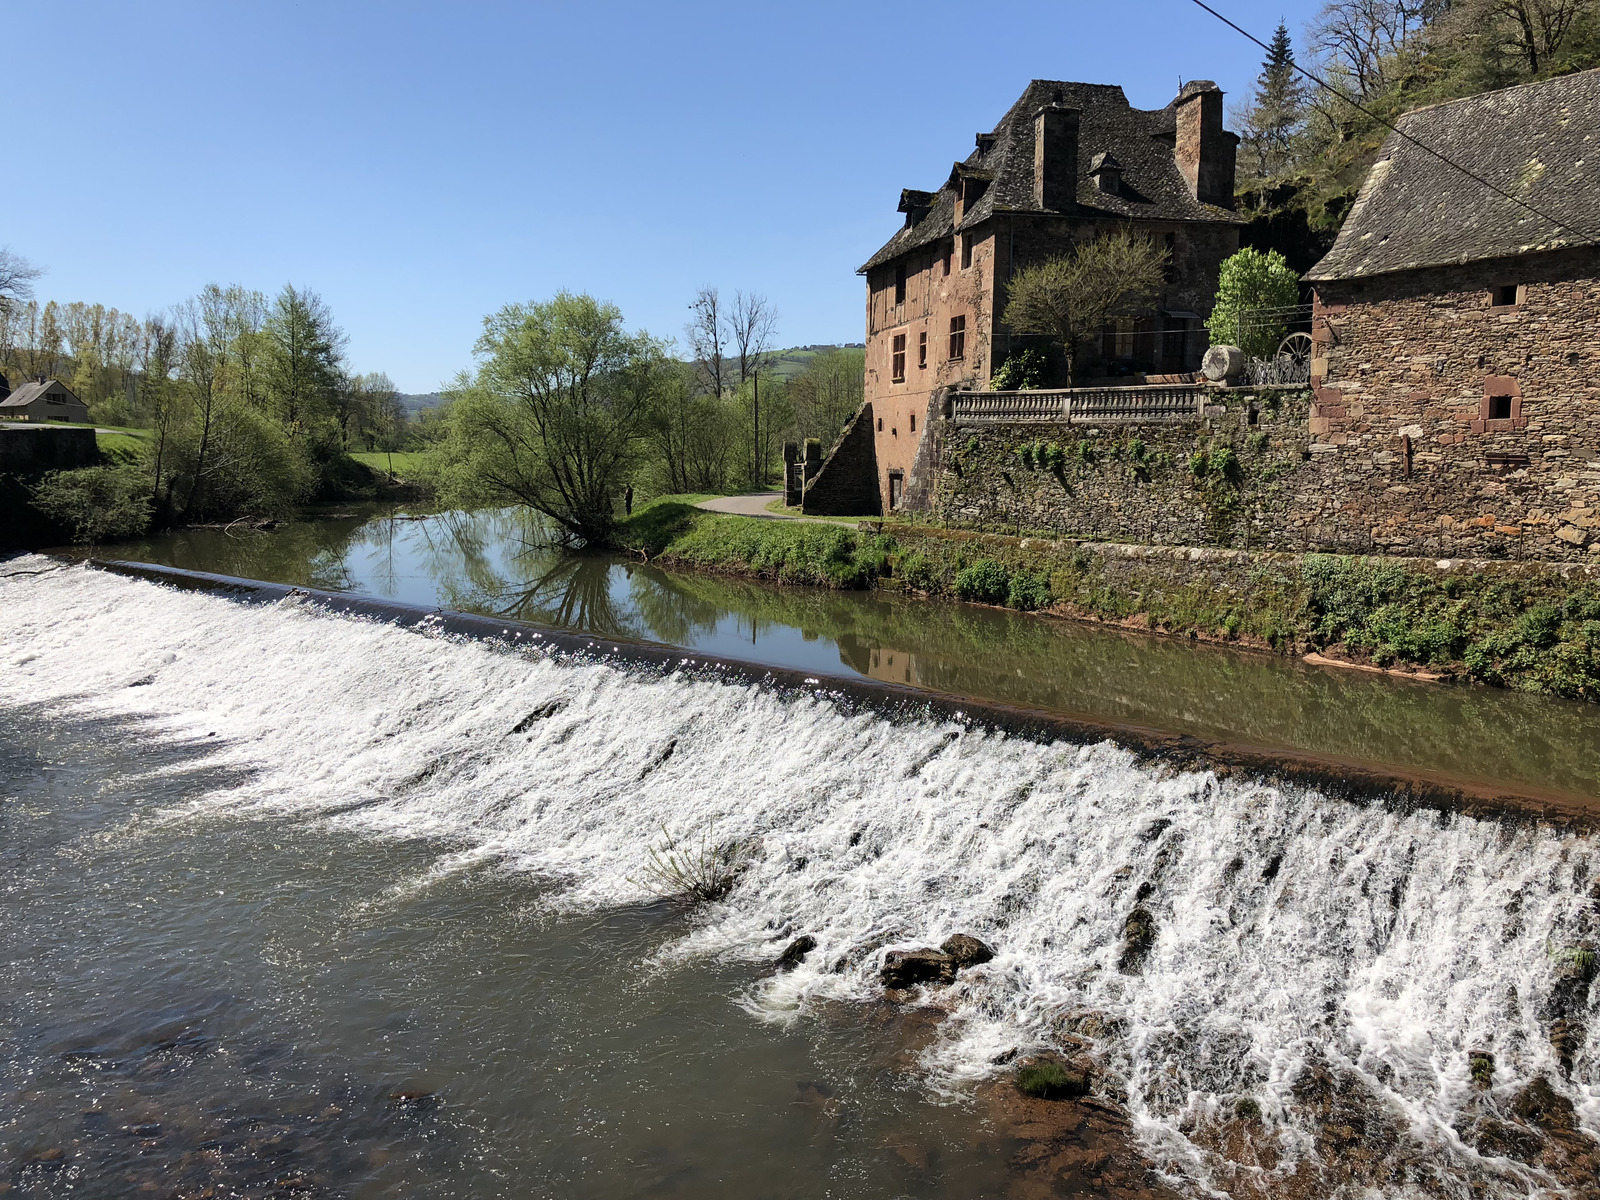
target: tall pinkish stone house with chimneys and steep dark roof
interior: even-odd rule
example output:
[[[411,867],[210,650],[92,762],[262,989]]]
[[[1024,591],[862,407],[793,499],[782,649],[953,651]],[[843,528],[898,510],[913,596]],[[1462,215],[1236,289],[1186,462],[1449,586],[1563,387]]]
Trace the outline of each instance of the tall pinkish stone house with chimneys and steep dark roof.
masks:
[[[1234,155],[1214,83],[1158,110],[1122,88],[1034,80],[938,190],[901,192],[904,226],[867,277],[866,406],[883,509],[898,509],[938,419],[934,397],[984,387],[1013,349],[1006,280],[1075,242],[1131,224],[1166,246],[1168,285],[1146,318],[1107,330],[1098,370],[1198,366],[1218,267],[1238,248]],[[923,475],[928,472],[923,470]]]

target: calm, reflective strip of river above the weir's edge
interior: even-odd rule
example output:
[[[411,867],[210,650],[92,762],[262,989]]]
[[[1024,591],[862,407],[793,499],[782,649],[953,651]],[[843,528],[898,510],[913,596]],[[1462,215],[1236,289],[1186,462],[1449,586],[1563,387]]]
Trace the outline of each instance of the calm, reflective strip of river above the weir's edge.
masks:
[[[562,555],[538,522],[514,510],[368,510],[272,533],[187,530],[115,554],[1264,749],[1600,795],[1594,706],[1309,667],[971,605]]]

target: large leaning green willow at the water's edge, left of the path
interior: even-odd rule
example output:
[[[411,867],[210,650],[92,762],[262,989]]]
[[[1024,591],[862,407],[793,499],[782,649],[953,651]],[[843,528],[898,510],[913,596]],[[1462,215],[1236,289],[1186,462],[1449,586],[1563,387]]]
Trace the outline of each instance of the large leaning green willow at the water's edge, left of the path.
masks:
[[[605,544],[670,363],[614,304],[558,293],[483,318],[434,451],[445,498],[523,504],[566,541]]]

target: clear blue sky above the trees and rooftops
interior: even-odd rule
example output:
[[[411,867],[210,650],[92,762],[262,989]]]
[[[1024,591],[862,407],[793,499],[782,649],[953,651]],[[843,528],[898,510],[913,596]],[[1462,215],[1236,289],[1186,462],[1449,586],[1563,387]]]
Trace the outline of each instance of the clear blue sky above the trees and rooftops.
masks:
[[[1315,11],[1213,6],[1296,42]],[[754,290],[786,346],[861,341],[854,270],[899,189],[941,184],[1029,78],[1232,104],[1261,62],[1189,0],[0,0],[0,245],[42,299],[302,283],[406,392],[558,288],[661,336],[701,285]]]

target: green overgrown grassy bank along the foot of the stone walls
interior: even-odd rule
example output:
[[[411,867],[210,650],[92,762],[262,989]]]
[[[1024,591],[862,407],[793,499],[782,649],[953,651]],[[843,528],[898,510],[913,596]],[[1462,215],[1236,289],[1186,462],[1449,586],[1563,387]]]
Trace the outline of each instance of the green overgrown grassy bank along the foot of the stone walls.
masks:
[[[1538,565],[1117,547],[890,525],[882,533],[640,509],[618,542],[653,562],[821,587],[891,587],[1165,634],[1318,651],[1600,701],[1600,582]]]

